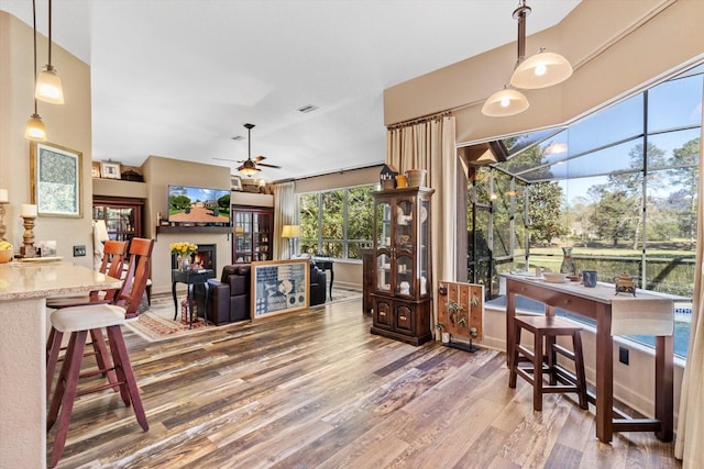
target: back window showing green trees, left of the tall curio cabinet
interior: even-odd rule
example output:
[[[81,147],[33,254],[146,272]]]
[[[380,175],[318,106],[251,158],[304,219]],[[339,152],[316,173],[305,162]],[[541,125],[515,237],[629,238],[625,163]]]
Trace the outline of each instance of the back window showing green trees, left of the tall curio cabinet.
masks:
[[[375,186],[302,193],[298,197],[300,250],[338,259],[361,259],[373,239]]]

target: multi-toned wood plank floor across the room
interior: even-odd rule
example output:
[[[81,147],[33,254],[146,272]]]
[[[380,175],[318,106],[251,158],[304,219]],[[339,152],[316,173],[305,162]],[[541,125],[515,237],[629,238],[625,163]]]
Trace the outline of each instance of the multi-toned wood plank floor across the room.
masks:
[[[125,330],[150,431],[117,393],[88,394],[58,467],[681,467],[650,433],[600,443],[594,409],[570,397],[532,412],[502,353],[414,347],[370,325],[352,300],[161,343]]]

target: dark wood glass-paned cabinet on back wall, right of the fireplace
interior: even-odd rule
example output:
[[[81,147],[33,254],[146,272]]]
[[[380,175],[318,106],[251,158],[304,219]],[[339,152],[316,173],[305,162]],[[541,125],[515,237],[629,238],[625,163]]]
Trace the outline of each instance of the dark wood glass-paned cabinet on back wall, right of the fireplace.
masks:
[[[274,210],[232,205],[232,263],[273,260]]]

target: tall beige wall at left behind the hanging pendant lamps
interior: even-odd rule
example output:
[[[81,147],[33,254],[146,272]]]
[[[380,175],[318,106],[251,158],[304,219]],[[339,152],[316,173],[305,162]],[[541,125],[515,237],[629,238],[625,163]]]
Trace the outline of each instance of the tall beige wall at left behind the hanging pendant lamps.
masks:
[[[19,219],[20,205],[31,201],[30,142],[24,138],[24,125],[34,109],[32,48],[32,29],[0,11],[0,188],[9,192],[6,237],[14,244],[16,252],[24,233]],[[46,38],[37,35],[37,68],[41,70],[46,62]],[[52,62],[62,77],[66,103],[40,102],[38,113],[46,125],[48,142],[82,153],[82,216],[40,216],[34,239],[55,239],[58,256],[91,267],[90,68],[56,45],[52,48]],[[85,245],[88,255],[73,257],[75,245]]]

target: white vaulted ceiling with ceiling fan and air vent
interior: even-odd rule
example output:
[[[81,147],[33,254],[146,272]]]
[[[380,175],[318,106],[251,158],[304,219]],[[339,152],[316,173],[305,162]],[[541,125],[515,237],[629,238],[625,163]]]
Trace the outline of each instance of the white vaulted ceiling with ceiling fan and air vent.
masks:
[[[529,0],[527,34],[557,24],[578,3]],[[46,34],[48,2],[36,4]],[[252,157],[283,166],[260,175],[282,180],[383,163],[383,90],[515,42],[517,5],[54,0],[52,35],[91,66],[94,160],[140,166],[158,155],[235,174],[233,160],[248,155],[243,124],[253,123]],[[0,0],[0,10],[32,24],[30,0]],[[62,64],[54,65],[61,75]],[[319,109],[297,111],[308,104]],[[238,135],[245,138],[233,141]]]

